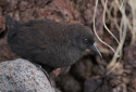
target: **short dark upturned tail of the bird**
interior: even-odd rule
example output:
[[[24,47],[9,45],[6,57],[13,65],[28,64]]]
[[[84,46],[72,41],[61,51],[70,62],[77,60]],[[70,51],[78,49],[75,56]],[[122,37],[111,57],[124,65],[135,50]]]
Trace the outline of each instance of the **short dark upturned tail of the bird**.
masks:
[[[5,15],[4,17],[5,17],[5,24],[8,28],[13,28],[14,26],[17,25],[17,22],[14,18],[12,18],[10,15]]]

